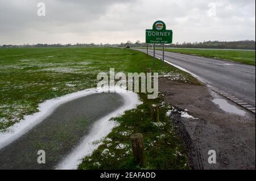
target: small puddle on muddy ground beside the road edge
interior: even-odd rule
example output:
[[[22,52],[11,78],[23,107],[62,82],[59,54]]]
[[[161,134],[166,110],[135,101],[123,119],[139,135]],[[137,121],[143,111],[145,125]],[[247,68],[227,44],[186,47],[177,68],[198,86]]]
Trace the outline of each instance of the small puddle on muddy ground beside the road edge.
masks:
[[[240,110],[232,104],[229,104],[228,101],[226,101],[225,99],[213,99],[212,101],[218,106],[220,106],[221,110],[225,112],[234,113],[241,116],[245,115],[245,111]]]

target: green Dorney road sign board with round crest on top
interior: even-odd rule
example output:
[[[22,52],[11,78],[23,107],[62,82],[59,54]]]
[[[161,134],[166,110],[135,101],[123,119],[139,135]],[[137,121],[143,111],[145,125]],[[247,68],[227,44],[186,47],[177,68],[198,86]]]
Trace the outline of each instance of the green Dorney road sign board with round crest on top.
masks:
[[[156,21],[152,30],[146,30],[146,43],[150,44],[171,44],[172,30],[166,30],[166,24]]]

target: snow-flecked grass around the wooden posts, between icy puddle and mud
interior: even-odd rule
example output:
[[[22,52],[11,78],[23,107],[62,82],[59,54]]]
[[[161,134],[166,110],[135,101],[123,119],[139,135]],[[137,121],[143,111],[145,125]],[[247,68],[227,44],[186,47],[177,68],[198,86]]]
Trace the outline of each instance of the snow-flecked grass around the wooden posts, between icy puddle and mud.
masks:
[[[147,99],[146,94],[139,95],[143,104],[114,119],[119,126],[102,140],[92,155],[83,159],[79,169],[189,169],[183,145],[174,131],[170,117],[166,116],[171,107],[163,102],[161,95],[154,100]],[[151,120],[151,104],[160,107],[160,123]],[[132,133],[143,134],[146,168],[134,162],[130,141]]]

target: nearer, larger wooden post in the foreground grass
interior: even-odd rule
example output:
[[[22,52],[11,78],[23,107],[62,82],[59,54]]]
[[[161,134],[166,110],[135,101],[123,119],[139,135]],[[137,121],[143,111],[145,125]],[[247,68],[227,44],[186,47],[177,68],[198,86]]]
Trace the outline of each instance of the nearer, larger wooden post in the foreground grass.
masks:
[[[143,135],[141,133],[135,133],[131,135],[131,146],[133,148],[134,161],[146,167],[146,154],[144,150]]]

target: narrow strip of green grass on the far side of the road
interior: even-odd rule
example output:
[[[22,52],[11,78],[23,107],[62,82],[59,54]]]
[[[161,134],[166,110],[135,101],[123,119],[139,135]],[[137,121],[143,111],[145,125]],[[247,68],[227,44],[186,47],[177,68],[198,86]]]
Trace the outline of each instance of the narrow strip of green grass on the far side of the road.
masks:
[[[162,48],[156,48],[162,50]],[[221,50],[221,49],[192,49],[166,48],[168,52],[191,54],[200,57],[229,60],[247,65],[255,65],[255,50]]]

